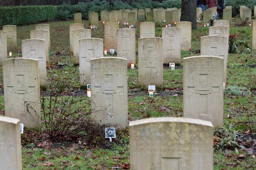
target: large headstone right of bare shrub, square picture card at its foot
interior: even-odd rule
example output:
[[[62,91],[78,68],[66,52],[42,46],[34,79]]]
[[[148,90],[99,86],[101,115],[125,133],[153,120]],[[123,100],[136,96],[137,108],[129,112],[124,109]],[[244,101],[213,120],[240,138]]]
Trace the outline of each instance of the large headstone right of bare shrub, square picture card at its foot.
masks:
[[[100,124],[128,126],[127,60],[101,57],[90,60],[91,118]]]

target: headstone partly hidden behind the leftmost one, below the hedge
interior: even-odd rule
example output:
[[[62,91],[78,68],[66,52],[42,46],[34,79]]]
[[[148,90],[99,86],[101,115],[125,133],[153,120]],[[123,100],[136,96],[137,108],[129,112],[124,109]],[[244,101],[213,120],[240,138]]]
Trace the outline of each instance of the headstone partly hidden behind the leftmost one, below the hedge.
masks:
[[[17,29],[16,26],[3,26],[3,31],[6,31],[7,51],[17,52]]]

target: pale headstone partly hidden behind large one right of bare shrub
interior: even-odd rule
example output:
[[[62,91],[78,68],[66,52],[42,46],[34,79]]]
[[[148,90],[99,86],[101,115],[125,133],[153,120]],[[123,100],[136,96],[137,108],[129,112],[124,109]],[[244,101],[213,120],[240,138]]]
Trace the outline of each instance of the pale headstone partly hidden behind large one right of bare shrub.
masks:
[[[79,40],[80,87],[90,84],[90,59],[103,57],[103,39],[84,38]]]

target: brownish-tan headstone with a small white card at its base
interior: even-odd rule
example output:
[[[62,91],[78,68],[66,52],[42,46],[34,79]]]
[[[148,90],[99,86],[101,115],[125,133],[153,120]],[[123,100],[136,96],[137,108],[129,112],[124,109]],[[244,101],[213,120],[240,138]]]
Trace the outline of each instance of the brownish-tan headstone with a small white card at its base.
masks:
[[[117,29],[118,23],[105,23],[104,24],[104,44],[105,49],[110,52],[110,49],[117,50]]]

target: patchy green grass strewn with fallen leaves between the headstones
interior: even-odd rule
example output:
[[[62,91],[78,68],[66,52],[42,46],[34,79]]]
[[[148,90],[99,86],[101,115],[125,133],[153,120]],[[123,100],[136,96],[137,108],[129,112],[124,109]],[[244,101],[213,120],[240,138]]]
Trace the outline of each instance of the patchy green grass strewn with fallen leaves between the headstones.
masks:
[[[238,18],[239,19],[239,18]],[[73,21],[48,22],[51,28],[51,47],[49,48],[49,63],[47,64],[47,77],[58,77],[59,83],[73,84],[74,93],[79,94],[79,67],[73,65],[73,53],[69,50],[69,24]],[[88,21],[83,21],[84,27],[90,29]],[[156,24],[156,36],[161,37],[161,23]],[[123,28],[120,24],[120,28]],[[136,29],[136,51],[140,37],[139,24]],[[21,40],[29,39],[30,30],[34,25],[17,27],[17,42],[19,52],[14,57],[21,57]],[[192,31],[191,51],[181,51],[181,59],[200,54],[200,37],[208,35],[209,28],[198,23],[198,29]],[[251,46],[252,28],[246,26],[230,27],[230,34],[237,34],[237,40],[246,41]],[[91,31],[91,37],[104,38],[104,26]],[[109,54],[106,56],[116,56]],[[138,57],[136,58],[138,59]],[[256,133],[255,113],[255,77],[256,77],[256,51],[250,54],[229,54],[227,67],[227,86],[233,85],[250,89],[250,96],[224,95],[224,128],[234,132],[242,130]],[[164,66],[163,91],[157,91],[154,97],[148,96],[148,91],[143,91],[138,86],[138,66],[128,69],[128,119],[129,121],[149,117],[182,117],[183,116],[183,63],[175,70]],[[3,69],[0,69],[0,74]],[[60,86],[61,87],[61,86]],[[48,88],[49,89],[49,88]],[[3,91],[3,80],[0,78],[0,90]],[[81,91],[80,91],[81,92]],[[47,94],[47,92],[45,93]],[[42,93],[42,95],[45,95]],[[80,94],[84,95],[84,94]],[[0,95],[0,114],[4,112],[3,94]],[[88,108],[90,111],[90,108]],[[88,116],[90,117],[90,116]],[[232,125],[232,126],[230,126]],[[22,135],[22,160],[23,170],[56,169],[56,170],[103,170],[103,169],[128,169],[129,167],[129,129],[117,132],[117,138],[112,143],[108,139],[95,137],[92,144],[87,139],[73,142],[56,142],[49,149],[49,143],[44,140],[41,133],[25,129]],[[230,142],[228,135],[222,137],[227,145]],[[43,143],[46,142],[46,143]],[[219,144],[218,141],[214,141]],[[239,142],[239,141],[236,141]],[[255,153],[254,153],[255,156]],[[214,170],[253,170],[256,168],[253,154],[240,147],[223,147],[214,150]]]

